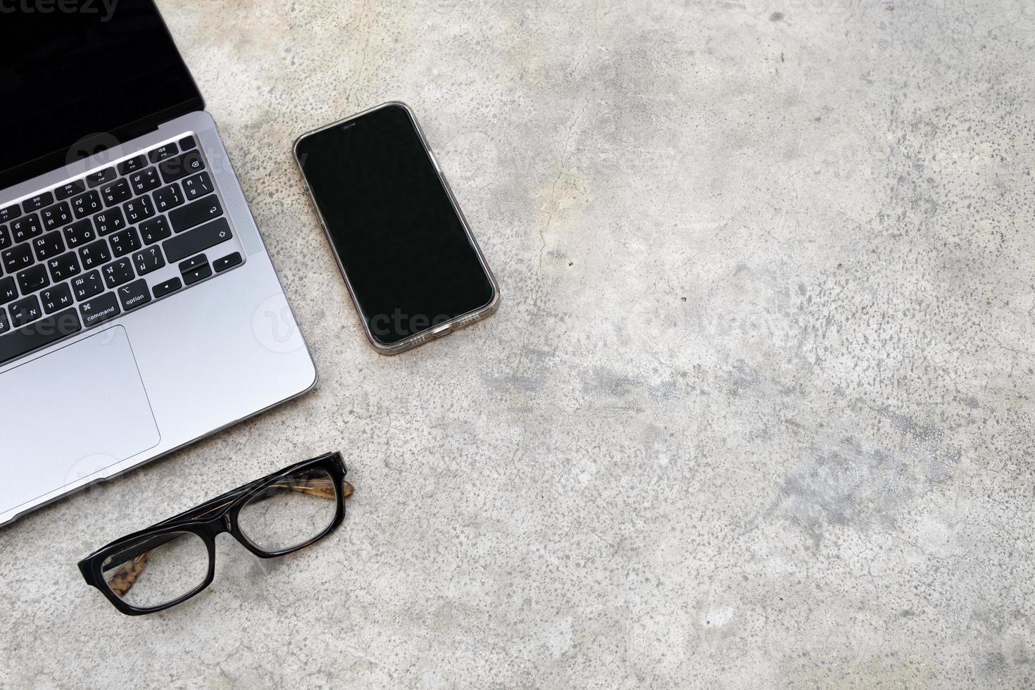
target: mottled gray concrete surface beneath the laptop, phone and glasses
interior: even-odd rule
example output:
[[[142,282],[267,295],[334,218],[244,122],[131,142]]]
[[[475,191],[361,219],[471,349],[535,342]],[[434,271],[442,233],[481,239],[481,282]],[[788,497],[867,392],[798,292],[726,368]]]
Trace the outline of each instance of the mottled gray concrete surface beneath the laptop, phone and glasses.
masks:
[[[1035,685],[1030,0],[160,4],[322,379],[0,531],[0,685]],[[504,301],[385,358],[290,151],[394,98]],[[334,448],[319,546],[80,580]]]

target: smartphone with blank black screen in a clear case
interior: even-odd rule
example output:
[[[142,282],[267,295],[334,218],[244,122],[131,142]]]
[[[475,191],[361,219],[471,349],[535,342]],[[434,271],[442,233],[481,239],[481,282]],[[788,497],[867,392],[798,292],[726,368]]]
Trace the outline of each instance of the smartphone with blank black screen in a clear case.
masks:
[[[496,279],[408,106],[302,134],[295,159],[366,337],[395,354],[482,319]]]

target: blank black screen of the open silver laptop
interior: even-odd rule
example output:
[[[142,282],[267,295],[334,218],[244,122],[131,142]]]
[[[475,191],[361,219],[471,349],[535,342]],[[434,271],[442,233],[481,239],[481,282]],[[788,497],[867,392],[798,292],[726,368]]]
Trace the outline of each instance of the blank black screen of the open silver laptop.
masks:
[[[200,110],[151,0],[0,0],[0,187]]]

